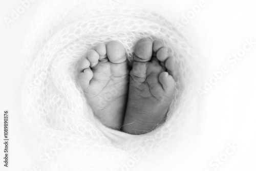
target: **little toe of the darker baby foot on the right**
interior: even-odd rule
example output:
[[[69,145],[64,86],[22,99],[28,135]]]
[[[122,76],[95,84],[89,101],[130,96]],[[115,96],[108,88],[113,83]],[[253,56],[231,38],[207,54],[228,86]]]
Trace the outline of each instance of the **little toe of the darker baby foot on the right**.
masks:
[[[173,94],[175,89],[175,80],[167,72],[162,72],[159,75],[159,82],[162,84],[163,90],[167,94]]]

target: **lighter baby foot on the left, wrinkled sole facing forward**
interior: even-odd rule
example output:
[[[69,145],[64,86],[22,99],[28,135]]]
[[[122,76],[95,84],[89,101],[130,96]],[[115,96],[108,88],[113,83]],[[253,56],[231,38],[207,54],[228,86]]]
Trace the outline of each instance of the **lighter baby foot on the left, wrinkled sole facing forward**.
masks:
[[[129,71],[125,49],[120,42],[99,44],[79,65],[79,81],[98,119],[119,129],[126,109]]]

